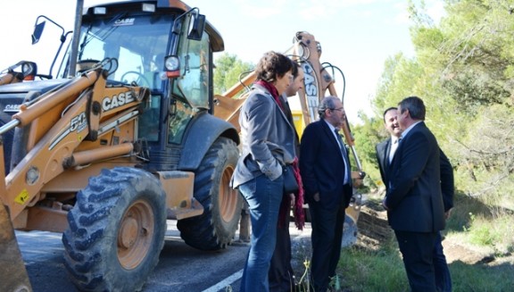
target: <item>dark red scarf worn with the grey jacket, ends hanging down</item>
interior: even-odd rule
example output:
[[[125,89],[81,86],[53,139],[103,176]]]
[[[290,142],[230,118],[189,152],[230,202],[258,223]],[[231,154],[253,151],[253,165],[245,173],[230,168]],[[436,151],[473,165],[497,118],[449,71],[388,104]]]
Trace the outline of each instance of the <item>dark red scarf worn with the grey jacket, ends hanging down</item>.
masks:
[[[275,102],[278,104],[282,112],[284,112],[284,107],[280,102],[278,96],[278,90],[275,86],[267,81],[258,80],[255,84],[259,84],[261,87],[266,88],[271,96],[275,99]],[[294,158],[293,162],[294,168],[294,178],[298,182],[299,191],[298,194],[294,194],[294,208],[293,208],[293,216],[294,216],[294,225],[296,225],[297,229],[303,230],[303,226],[305,226],[305,213],[303,212],[303,183],[302,177],[300,176],[300,168],[298,167],[298,158]],[[291,199],[289,198],[289,194],[284,194],[282,197],[282,203],[280,204],[280,210],[278,212],[278,227],[284,228],[284,223],[286,221],[286,216],[289,216],[289,208],[291,206]],[[289,228],[289,227],[286,227]]]

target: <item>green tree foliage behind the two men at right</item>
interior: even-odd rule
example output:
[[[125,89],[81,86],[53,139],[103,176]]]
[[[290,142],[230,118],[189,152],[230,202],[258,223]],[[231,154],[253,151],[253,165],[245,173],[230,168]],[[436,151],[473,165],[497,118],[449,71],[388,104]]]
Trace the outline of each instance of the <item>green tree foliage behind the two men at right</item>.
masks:
[[[382,112],[407,96],[421,97],[427,125],[472,196],[513,188],[514,13],[511,1],[446,0],[435,24],[423,4],[410,3],[415,56],[390,57],[372,101],[375,116],[359,127],[363,160],[386,138]],[[380,121],[380,122],[377,122]],[[357,129],[355,129],[357,132]]]

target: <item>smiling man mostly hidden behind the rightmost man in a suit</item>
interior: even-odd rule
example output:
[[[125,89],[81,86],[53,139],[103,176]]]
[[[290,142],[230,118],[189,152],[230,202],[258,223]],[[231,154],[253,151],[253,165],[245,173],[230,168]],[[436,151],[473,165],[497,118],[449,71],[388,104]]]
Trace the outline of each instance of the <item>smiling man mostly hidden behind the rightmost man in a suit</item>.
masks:
[[[386,170],[389,168],[390,160],[394,156],[394,144],[397,144],[398,139],[402,136],[402,129],[400,129],[398,125],[396,115],[396,107],[390,107],[384,111],[384,126],[387,132],[389,132],[390,138],[387,138],[386,140],[378,143],[376,146],[378,168],[380,170],[380,175],[382,176],[382,182],[384,182],[386,189],[389,183],[389,180],[386,177]],[[439,151],[439,163],[441,164],[441,190],[443,193],[444,213],[445,216],[448,217],[450,210],[453,207],[453,168],[443,150],[439,149]],[[444,256],[441,232],[437,233],[433,253],[435,284],[437,289],[441,292],[451,292],[452,276],[450,274],[450,270],[448,269],[448,263],[446,263],[446,257]]]

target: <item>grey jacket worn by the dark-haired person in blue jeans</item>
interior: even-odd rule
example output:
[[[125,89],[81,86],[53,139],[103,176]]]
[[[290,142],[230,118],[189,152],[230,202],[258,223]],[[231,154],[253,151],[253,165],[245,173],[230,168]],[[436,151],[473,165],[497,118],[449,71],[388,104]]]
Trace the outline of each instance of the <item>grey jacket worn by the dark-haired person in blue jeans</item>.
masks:
[[[282,165],[294,161],[294,126],[268,90],[253,85],[239,113],[242,154],[232,175],[232,188],[262,174],[275,180]]]

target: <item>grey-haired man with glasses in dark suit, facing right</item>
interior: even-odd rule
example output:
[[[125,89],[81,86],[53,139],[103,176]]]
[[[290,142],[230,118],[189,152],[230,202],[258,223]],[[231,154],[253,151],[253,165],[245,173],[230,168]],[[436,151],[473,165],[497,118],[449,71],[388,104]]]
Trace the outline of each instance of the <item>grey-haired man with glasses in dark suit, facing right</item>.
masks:
[[[341,100],[335,96],[323,98],[318,113],[320,120],[303,130],[300,173],[311,212],[311,284],[314,291],[324,292],[336,276],[352,179],[348,152],[339,136],[344,121]]]

